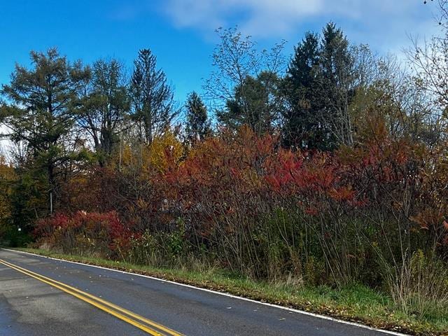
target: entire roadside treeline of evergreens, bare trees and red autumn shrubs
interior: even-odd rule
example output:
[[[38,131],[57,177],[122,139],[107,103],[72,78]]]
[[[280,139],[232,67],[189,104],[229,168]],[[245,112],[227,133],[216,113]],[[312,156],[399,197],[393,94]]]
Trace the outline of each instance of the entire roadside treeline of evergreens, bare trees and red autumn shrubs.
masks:
[[[218,35],[204,97],[181,107],[148,49],[131,76],[54,49],[16,66],[1,90],[14,145],[0,162],[3,241],[364,283],[444,314],[448,35],[409,50],[405,69],[332,23],[288,62],[284,43],[259,52],[235,29]]]

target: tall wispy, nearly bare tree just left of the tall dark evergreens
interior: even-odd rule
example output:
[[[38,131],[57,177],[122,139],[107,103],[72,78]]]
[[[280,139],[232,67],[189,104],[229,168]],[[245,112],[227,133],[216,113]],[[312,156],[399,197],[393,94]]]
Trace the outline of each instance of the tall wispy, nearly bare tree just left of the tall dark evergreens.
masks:
[[[227,127],[247,123],[255,132],[267,132],[279,113],[275,94],[284,41],[259,52],[251,36],[242,36],[236,28],[216,32],[221,41],[214,49],[214,71],[204,89],[218,120]]]

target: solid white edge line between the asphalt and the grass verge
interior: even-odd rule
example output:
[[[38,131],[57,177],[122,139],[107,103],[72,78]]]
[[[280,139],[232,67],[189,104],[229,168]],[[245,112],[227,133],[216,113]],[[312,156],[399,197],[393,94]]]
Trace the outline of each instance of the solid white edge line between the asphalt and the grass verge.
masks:
[[[157,280],[157,281],[162,281],[162,282],[165,282],[165,283],[172,283],[172,284],[177,285],[177,286],[194,288],[196,290],[203,290],[204,292],[208,292],[208,293],[214,293],[214,294],[218,294],[218,295],[232,297],[232,298],[238,299],[238,300],[244,300],[244,301],[248,301],[248,302],[262,304],[262,305],[268,306],[268,307],[274,307],[274,308],[283,309],[283,310],[287,310],[287,311],[293,311],[293,312],[295,312],[297,314],[303,314],[303,315],[313,316],[313,317],[316,317],[316,318],[322,318],[324,320],[337,322],[337,323],[342,323],[342,324],[346,324],[346,325],[353,325],[353,326],[358,327],[358,328],[374,330],[374,331],[377,331],[377,332],[384,332],[385,334],[388,334],[388,335],[409,336],[407,334],[402,334],[400,332],[373,328],[373,327],[370,327],[368,325],[364,325],[364,324],[360,324],[360,323],[356,323],[356,322],[344,321],[344,320],[340,320],[339,318],[334,318],[334,317],[325,316],[325,315],[321,315],[321,314],[315,314],[315,313],[311,313],[309,311],[304,311],[304,310],[300,310],[300,309],[294,309],[294,308],[290,308],[290,307],[283,307],[283,306],[279,306],[279,304],[272,304],[272,303],[268,303],[268,302],[261,302],[261,301],[257,301],[257,300],[253,300],[253,299],[248,299],[247,297],[241,297],[241,296],[232,295],[232,294],[229,294],[229,293],[218,292],[216,290],[211,290],[211,289],[207,289],[207,288],[201,288],[201,287],[197,287],[197,286],[188,285],[186,283],[179,283],[179,282],[176,282],[176,281],[160,279],[160,278],[156,278],[155,276],[148,276],[148,275],[144,275],[144,274],[126,272],[126,271],[121,271],[120,269],[113,269],[113,268],[107,268],[107,267],[102,267],[102,266],[97,266],[97,265],[90,265],[90,264],[85,264],[83,262],[70,261],[70,260],[64,260],[64,259],[59,259],[59,258],[52,258],[52,257],[48,257],[46,255],[39,255],[39,254],[36,254],[36,253],[31,253],[31,252],[25,252],[25,251],[19,251],[19,250],[11,250],[10,248],[1,248],[1,249],[6,250],[6,251],[11,251],[11,252],[25,253],[25,254],[29,254],[29,255],[36,255],[37,257],[41,257],[41,258],[47,258],[47,259],[52,259],[52,260],[70,262],[72,264],[78,264],[78,265],[83,265],[83,266],[95,267],[95,268],[99,268],[99,269],[106,269],[108,271],[119,272],[119,273],[123,273],[123,274],[131,274],[131,275],[134,275],[134,276],[141,276],[141,277],[144,277],[144,278]]]

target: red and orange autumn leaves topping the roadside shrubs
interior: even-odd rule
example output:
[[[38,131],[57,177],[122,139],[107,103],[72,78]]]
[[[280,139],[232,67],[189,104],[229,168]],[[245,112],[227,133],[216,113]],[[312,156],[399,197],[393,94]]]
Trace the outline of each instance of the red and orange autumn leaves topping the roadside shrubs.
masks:
[[[448,199],[444,194],[448,193],[444,191],[448,165],[426,163],[430,169],[425,172],[428,153],[405,140],[389,139],[382,130],[378,137],[334,153],[288,151],[277,141],[269,135],[258,137],[243,127],[236,133],[223,132],[197,142],[185,157],[160,146],[163,169],[148,165],[142,174],[138,165],[128,165],[132,169],[102,169],[83,177],[90,181],[73,183],[80,187],[71,204],[92,213],[83,215],[86,218],[57,215],[39,224],[36,232],[45,236],[59,227],[91,232],[90,223],[100,223],[108,228],[109,240],[125,244],[132,237],[130,225],[123,227],[118,218],[95,212],[111,209],[118,209],[126,223],[136,223],[141,231],[165,230],[173,225],[174,216],[179,216],[202,237],[210,237],[220,225],[240,223],[245,216],[253,219],[283,207],[292,211],[297,207],[309,216],[330,211],[332,216],[354,214],[365,207],[396,214],[407,204],[403,195],[409,195],[409,200],[419,200],[419,204],[434,200],[428,208],[438,209],[440,214],[448,209],[446,202],[440,201]],[[436,154],[435,158],[447,156]],[[425,209],[412,207],[406,214],[423,214]],[[425,232],[445,225],[427,214],[418,223],[419,228],[430,228]]]

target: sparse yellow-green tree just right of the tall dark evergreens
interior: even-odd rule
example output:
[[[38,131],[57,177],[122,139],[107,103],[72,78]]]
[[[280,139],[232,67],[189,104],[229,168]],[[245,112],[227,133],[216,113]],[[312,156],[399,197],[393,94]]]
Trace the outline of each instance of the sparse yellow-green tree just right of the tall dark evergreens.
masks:
[[[370,78],[357,85],[349,106],[354,141],[363,142],[363,135],[374,127],[370,122],[381,120],[391,139],[406,138],[433,146],[439,140],[442,123],[433,118],[437,107],[427,91],[393,56],[371,58],[370,64],[374,71],[367,71]],[[356,71],[362,74],[358,67]]]

